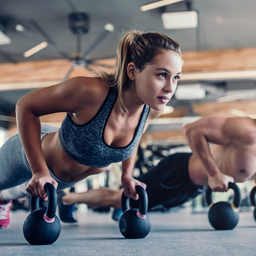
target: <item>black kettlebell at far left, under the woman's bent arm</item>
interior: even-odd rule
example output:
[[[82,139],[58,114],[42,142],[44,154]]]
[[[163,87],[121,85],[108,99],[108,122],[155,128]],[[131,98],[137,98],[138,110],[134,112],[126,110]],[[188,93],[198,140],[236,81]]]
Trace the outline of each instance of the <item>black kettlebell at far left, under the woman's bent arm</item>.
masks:
[[[39,198],[30,197],[31,214],[23,224],[25,239],[33,245],[53,244],[60,234],[60,222],[55,215],[57,192],[51,183],[45,184],[48,195],[47,209],[39,209]]]

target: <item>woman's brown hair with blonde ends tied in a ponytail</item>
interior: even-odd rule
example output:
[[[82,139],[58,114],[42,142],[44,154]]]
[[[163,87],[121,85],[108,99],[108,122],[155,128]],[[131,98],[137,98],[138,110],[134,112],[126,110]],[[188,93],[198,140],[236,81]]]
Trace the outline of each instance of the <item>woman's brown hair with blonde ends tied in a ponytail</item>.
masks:
[[[118,44],[117,61],[114,72],[105,69],[96,71],[96,74],[110,87],[118,90],[118,104],[121,110],[126,110],[123,104],[122,91],[127,89],[126,68],[128,63],[133,62],[140,71],[147,63],[154,60],[154,57],[161,51],[170,50],[181,55],[180,45],[165,34],[159,32],[143,33],[132,30],[124,34]]]

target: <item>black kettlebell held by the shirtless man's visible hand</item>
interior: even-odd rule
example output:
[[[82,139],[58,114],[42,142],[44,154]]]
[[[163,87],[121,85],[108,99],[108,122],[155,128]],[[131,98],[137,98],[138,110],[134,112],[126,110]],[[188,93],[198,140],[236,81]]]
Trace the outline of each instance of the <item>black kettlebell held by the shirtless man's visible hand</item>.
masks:
[[[215,229],[233,229],[239,221],[238,207],[241,200],[241,192],[235,183],[228,183],[228,188],[234,190],[234,201],[212,203],[212,191],[208,186],[205,193],[205,199],[210,206],[208,219],[212,227]]]

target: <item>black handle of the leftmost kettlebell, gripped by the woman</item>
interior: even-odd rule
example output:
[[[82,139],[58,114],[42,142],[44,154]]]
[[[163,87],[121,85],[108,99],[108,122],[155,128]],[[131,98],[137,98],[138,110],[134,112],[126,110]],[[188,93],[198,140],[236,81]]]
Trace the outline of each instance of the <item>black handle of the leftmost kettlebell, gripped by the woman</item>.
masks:
[[[48,204],[46,208],[46,216],[50,219],[54,218],[57,208],[57,191],[53,184],[47,182],[45,184],[45,190],[48,195]],[[30,210],[31,212],[39,209],[39,198],[30,197]]]

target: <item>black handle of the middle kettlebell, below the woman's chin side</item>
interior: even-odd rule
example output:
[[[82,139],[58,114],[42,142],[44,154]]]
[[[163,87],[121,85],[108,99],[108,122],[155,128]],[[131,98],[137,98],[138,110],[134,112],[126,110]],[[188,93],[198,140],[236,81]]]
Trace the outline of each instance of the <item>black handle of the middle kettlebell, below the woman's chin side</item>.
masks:
[[[146,190],[140,186],[140,185],[136,185],[135,186],[135,190],[136,192],[139,194],[139,200],[140,200],[140,204],[139,204],[139,212],[142,215],[145,215],[147,212],[147,205],[148,205],[148,198],[147,198],[147,193]],[[124,212],[127,209],[130,209],[130,205],[129,205],[129,198],[127,198],[124,193],[122,193],[122,197],[121,197],[121,205],[122,205],[122,211]]]

